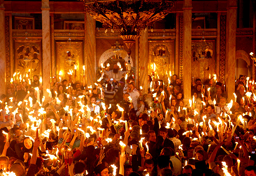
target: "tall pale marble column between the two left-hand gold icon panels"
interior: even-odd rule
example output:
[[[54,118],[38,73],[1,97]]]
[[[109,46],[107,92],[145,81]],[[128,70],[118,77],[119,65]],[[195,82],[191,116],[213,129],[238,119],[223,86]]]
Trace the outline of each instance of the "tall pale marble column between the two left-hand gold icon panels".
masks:
[[[49,0],[42,0],[42,60],[43,60],[43,95],[45,102],[50,100],[46,89],[51,89],[51,33]]]

